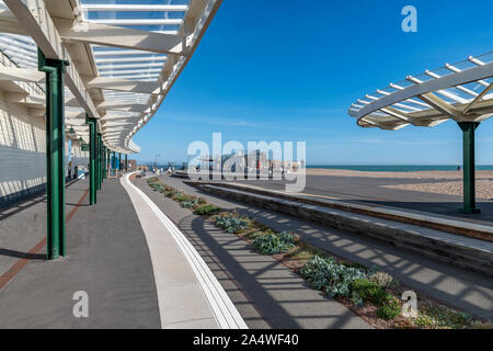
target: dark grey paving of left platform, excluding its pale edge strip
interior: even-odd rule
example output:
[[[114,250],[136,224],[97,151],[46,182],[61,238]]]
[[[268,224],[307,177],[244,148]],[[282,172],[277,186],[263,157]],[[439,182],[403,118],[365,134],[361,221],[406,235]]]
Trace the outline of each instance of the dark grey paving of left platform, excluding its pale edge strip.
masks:
[[[0,328],[160,328],[152,264],[134,207],[116,180],[105,180],[98,206],[79,181],[67,190],[65,259],[46,261],[46,249],[26,254],[46,236],[43,196],[3,213],[0,269],[31,259],[0,291]],[[12,211],[12,210],[11,210]],[[89,318],[72,314],[78,291],[89,295]]]

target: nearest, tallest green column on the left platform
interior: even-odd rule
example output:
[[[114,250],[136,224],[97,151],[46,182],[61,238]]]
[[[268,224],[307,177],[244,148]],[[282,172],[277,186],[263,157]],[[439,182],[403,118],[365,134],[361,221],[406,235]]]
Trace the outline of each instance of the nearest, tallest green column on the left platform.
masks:
[[[66,254],[65,244],[65,98],[66,60],[46,58],[37,50],[38,70],[46,72],[46,197],[47,258]]]

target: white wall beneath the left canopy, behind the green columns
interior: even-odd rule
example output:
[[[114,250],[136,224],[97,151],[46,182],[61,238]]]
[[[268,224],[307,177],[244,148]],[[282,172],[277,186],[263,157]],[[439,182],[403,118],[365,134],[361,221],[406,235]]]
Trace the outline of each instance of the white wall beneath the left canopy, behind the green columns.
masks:
[[[15,64],[0,52],[0,66],[15,67]],[[37,193],[46,184],[45,117],[39,116],[39,110],[32,113],[26,104],[12,102],[12,94],[45,97],[42,84],[0,82],[0,207]],[[67,146],[68,141],[66,157]],[[87,168],[89,152],[81,150],[79,140],[72,141],[71,154],[72,170],[76,166]]]

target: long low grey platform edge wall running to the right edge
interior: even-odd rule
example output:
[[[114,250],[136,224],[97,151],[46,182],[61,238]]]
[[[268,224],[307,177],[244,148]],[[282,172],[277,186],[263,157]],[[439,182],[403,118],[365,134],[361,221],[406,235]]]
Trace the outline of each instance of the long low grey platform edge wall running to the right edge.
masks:
[[[324,199],[307,200],[303,195],[266,190],[259,191],[259,189],[246,185],[199,183],[198,186],[206,192],[220,196],[266,210],[278,211],[358,236],[375,238],[414,251],[417,254],[493,276],[493,242],[491,241],[434,230],[400,220],[368,216],[355,213],[354,208],[349,208],[353,211],[341,211],[339,206],[334,205],[333,201],[329,202]],[[362,207],[360,205],[352,206]],[[375,213],[376,210],[367,208],[364,211],[364,213],[367,212]],[[395,212],[393,211],[393,213]],[[401,215],[401,217],[404,215]],[[422,219],[422,222],[426,218]],[[433,220],[433,218],[427,220]],[[468,226],[480,227],[475,224],[468,224]],[[491,228],[484,227],[483,230],[491,230]],[[490,235],[489,231],[483,233]]]

